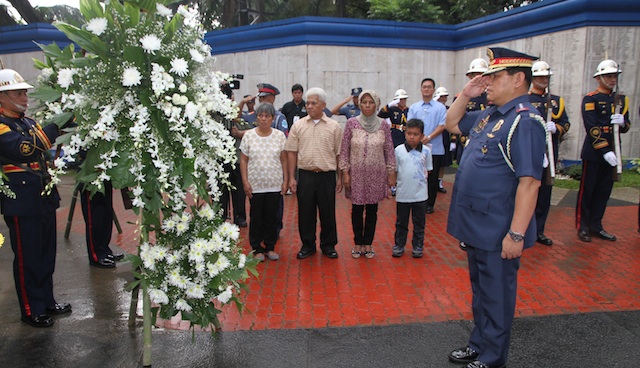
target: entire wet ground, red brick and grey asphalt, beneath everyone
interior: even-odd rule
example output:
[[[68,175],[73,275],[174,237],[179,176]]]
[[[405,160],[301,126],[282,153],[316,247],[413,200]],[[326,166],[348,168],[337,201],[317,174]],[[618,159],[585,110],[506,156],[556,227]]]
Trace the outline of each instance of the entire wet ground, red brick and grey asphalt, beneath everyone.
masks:
[[[451,190],[452,176],[445,177]],[[130,266],[89,267],[79,203],[64,230],[73,185],[60,186],[59,302],[73,305],[52,328],[20,322],[13,284],[13,252],[0,249],[0,367],[139,367],[142,326],[129,328]],[[391,257],[395,203],[380,205],[374,259],[350,257],[350,204],[338,195],[337,260],[320,253],[295,259],[299,250],[296,200],[285,198],[285,228],[277,262],[259,265],[260,277],[243,296],[250,312],[225,308],[215,337],[192,340],[178,320],[153,331],[154,367],[456,367],[447,353],[466,343],[472,328],[465,254],[446,234],[449,194],[440,194],[427,216],[422,259]],[[114,227],[114,249],[135,252],[131,211],[114,196],[123,233]],[[552,247],[527,250],[519,273],[516,320],[508,366],[636,367],[640,361],[640,234],[638,191],[612,195],[605,228],[617,242],[577,240],[575,191],[554,189],[546,235]],[[0,232],[7,228],[2,222]],[[247,238],[247,229],[241,236]],[[7,239],[8,241],[8,239]],[[245,249],[249,249],[245,244]],[[138,312],[140,312],[138,310]]]

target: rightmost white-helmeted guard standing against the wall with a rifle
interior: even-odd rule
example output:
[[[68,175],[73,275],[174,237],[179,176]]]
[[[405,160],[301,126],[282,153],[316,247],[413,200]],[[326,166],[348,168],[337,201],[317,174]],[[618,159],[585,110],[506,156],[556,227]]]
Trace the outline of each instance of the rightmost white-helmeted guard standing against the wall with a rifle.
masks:
[[[591,234],[604,240],[616,240],[614,235],[602,228],[602,217],[613,188],[612,170],[617,165],[613,126],[620,126],[621,133],[626,133],[630,127],[627,96],[618,97],[622,108],[616,113],[614,88],[621,72],[618,63],[613,60],[598,64],[593,75],[598,88],[582,99],[582,122],[587,135],[580,156],[582,179],[576,203],[576,227],[578,238],[583,242],[590,242]]]

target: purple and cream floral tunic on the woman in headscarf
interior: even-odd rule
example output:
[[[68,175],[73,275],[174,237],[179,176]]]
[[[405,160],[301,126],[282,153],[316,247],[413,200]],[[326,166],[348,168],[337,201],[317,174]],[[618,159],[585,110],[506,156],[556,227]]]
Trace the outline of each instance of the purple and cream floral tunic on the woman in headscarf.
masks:
[[[369,133],[357,118],[347,120],[340,147],[340,170],[349,170],[351,190],[345,191],[353,204],[378,203],[387,197],[388,175],[396,170],[391,130],[386,122]]]

